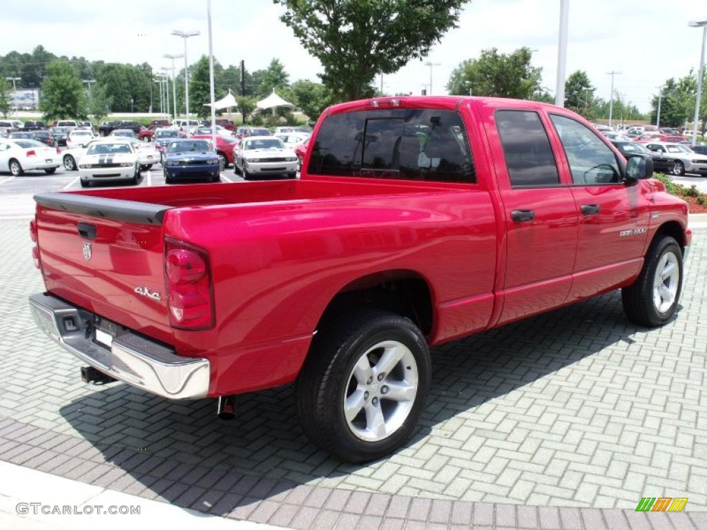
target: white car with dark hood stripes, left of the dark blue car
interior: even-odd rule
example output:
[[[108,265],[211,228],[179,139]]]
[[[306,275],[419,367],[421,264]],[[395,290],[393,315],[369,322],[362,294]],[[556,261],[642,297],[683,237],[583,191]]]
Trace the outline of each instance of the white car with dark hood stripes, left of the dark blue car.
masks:
[[[90,143],[78,163],[81,187],[92,182],[127,180],[137,184],[140,166],[133,146],[124,140],[96,140]]]

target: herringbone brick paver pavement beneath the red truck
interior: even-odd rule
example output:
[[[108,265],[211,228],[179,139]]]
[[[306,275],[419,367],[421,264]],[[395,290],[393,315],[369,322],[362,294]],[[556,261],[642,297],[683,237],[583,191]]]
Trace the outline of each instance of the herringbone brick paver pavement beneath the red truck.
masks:
[[[707,525],[706,232],[673,322],[639,329],[609,293],[436,348],[414,439],[353,466],[308,442],[291,387],[221,423],[211,400],[83,384],[31,321],[27,225],[0,221],[0,459],[294,528],[662,527],[631,511],[643,496],[689,497],[672,524]]]

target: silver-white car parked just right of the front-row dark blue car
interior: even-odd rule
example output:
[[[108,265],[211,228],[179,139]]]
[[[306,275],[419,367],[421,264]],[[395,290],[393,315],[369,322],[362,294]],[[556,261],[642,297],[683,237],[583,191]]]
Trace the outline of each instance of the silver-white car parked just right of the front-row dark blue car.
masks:
[[[273,136],[249,136],[233,150],[233,167],[243,179],[269,175],[297,176],[297,155]]]

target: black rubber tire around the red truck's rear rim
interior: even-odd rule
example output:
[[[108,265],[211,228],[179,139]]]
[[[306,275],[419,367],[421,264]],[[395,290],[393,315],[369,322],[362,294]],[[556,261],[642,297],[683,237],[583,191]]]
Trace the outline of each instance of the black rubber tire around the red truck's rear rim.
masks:
[[[362,440],[354,435],[344,416],[349,377],[361,355],[381,341],[392,340],[407,346],[414,356],[417,393],[407,417],[390,435],[376,441]],[[414,432],[425,406],[430,377],[427,343],[409,319],[380,310],[348,312],[329,320],[312,339],[295,384],[300,424],[313,443],[337,459],[349,462],[378,459],[400,447]],[[382,403],[378,406],[382,407]]]

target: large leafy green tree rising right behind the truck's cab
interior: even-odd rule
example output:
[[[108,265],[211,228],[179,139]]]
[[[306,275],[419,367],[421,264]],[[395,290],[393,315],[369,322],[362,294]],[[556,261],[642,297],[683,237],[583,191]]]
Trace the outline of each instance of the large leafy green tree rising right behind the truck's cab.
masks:
[[[395,73],[425,57],[456,27],[466,0],[273,0],[281,16],[322,63],[322,82],[341,100],[373,93],[377,73]]]

